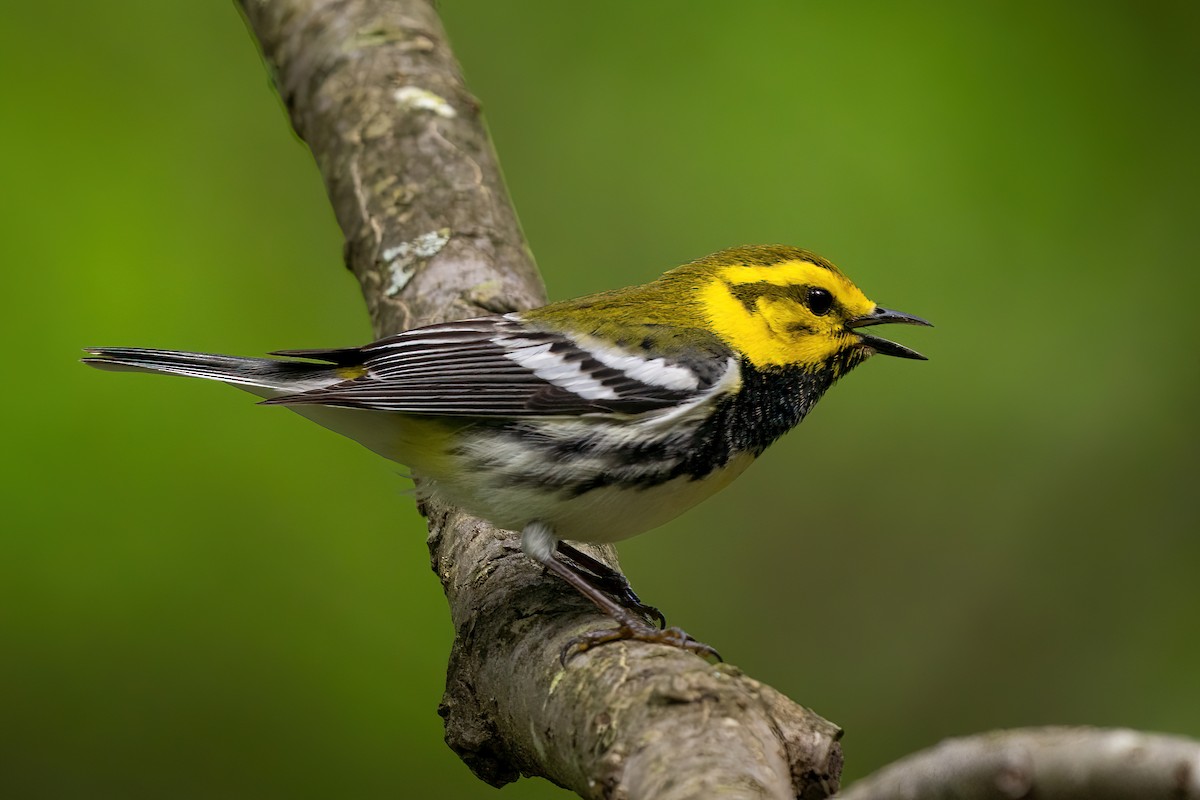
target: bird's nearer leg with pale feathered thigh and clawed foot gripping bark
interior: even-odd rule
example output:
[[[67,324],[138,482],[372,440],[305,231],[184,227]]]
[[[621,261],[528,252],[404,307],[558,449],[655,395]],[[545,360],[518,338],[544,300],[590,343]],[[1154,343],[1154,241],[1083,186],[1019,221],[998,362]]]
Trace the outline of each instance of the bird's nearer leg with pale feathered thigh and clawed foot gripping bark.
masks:
[[[608,642],[620,639],[632,639],[635,642],[648,642],[652,644],[666,644],[668,646],[688,650],[704,657],[713,657],[720,661],[721,656],[716,650],[703,642],[697,642],[678,627],[658,628],[649,625],[635,612],[620,604],[600,589],[592,585],[580,571],[558,560],[554,554],[558,549],[559,540],[550,525],[533,522],[521,531],[521,549],[535,561],[574,587],[576,591],[590,600],[604,613],[617,621],[617,627],[604,631],[589,631],[577,636],[563,648],[562,660],[566,663],[571,656],[583,652],[590,648]],[[594,560],[594,559],[593,559]]]

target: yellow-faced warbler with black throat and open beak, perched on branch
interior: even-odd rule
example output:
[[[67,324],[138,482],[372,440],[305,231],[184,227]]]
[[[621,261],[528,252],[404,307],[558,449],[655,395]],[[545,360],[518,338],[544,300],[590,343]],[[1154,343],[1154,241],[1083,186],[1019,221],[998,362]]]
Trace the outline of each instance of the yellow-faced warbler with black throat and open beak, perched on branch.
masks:
[[[631,639],[720,658],[572,542],[658,528],[730,485],[872,355],[865,332],[923,325],[820,255],[732,247],[648,283],[415,327],[362,347],[239,357],[85,348],[109,371],[218,380],[407,465],[422,492],[498,528],[616,621],[571,654]]]

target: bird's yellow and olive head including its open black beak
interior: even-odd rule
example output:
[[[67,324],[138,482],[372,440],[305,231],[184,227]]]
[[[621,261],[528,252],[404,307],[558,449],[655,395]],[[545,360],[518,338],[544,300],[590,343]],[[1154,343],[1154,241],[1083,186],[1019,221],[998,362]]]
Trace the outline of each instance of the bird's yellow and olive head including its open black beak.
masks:
[[[868,300],[820,255],[794,247],[736,247],[694,261],[710,330],[758,368],[832,366],[842,372],[876,353],[916,350],[863,331],[870,325],[929,325]]]

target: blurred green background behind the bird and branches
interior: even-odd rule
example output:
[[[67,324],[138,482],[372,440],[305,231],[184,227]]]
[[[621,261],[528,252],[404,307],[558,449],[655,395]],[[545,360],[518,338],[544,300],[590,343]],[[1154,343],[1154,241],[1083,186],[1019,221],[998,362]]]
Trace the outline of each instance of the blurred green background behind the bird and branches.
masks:
[[[1198,10],[443,2],[552,297],[790,242],[936,321],[622,547],[846,728],[847,778],[1004,726],[1200,736]],[[442,744],[401,470],[76,362],[370,336],[234,7],[13,7],[0,76],[0,795],[494,796]]]

